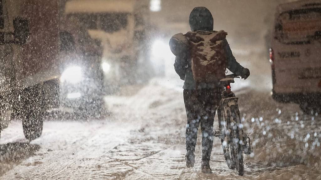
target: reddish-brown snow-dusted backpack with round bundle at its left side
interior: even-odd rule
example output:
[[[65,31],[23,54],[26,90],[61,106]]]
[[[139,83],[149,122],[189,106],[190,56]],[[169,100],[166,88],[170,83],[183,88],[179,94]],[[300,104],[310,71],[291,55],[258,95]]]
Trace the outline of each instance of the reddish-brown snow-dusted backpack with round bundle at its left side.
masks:
[[[186,56],[191,58],[191,68],[196,85],[218,82],[225,78],[227,57],[224,40],[226,36],[227,33],[221,30],[187,32],[185,35],[180,33],[171,38],[170,47],[174,55],[188,52]],[[184,51],[181,51],[182,49]]]

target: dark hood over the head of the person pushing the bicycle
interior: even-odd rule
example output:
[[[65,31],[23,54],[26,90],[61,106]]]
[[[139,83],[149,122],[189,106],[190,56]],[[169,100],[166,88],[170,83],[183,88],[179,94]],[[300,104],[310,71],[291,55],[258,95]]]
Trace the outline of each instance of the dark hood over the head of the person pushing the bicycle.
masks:
[[[189,15],[189,26],[192,31],[213,31],[212,13],[206,7],[195,7]]]

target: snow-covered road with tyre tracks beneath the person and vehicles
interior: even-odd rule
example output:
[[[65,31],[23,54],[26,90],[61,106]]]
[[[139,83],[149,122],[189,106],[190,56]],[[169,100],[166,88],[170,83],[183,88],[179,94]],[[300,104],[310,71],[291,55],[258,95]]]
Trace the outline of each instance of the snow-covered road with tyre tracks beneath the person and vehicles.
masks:
[[[201,173],[200,142],[195,167],[186,168],[186,115],[176,89],[152,82],[134,95],[107,97],[111,116],[46,121],[42,136],[31,143],[21,122],[13,122],[2,132],[0,179],[321,179],[320,116],[244,89],[237,95],[256,153],[245,161],[245,176],[227,168],[218,139],[213,174]]]

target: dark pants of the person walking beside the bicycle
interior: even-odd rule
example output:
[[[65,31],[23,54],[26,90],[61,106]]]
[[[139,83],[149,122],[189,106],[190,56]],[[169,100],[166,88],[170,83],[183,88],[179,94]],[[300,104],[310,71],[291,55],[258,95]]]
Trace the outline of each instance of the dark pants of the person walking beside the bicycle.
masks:
[[[221,100],[219,89],[184,89],[184,102],[187,114],[186,150],[187,156],[194,155],[197,129],[202,130],[202,163],[209,163],[213,146],[213,123],[215,112]]]

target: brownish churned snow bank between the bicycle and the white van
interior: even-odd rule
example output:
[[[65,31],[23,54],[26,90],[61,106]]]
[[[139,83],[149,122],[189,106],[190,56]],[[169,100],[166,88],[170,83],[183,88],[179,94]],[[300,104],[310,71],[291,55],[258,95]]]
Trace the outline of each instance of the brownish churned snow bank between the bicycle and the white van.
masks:
[[[297,104],[277,103],[268,93],[242,93],[241,118],[255,154],[246,162],[271,167],[257,179],[320,179],[321,117],[303,114]]]

